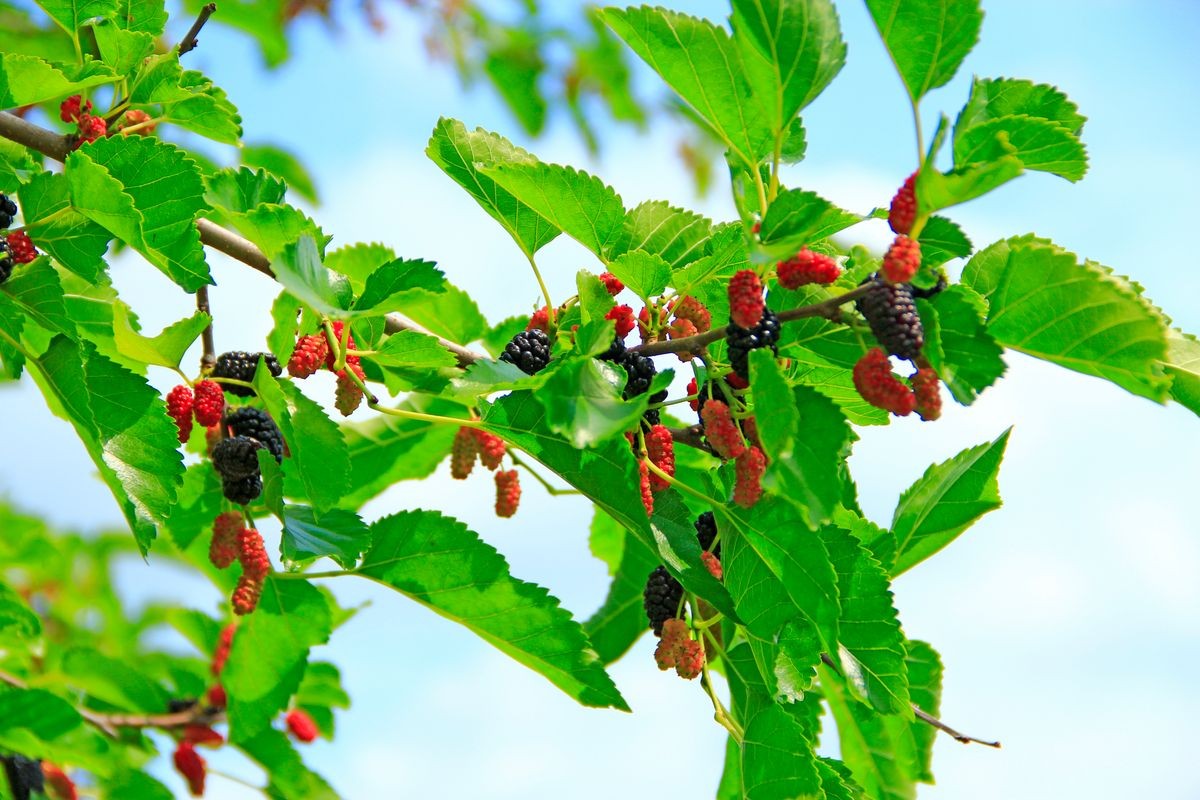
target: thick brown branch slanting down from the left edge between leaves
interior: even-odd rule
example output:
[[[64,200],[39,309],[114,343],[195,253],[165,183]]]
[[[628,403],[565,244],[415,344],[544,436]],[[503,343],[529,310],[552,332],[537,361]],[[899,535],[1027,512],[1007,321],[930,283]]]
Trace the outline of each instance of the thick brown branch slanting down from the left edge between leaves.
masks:
[[[31,150],[36,150],[44,156],[54,158],[55,161],[66,160],[67,152],[70,151],[66,137],[59,136],[53,131],[47,131],[46,128],[38,127],[32,122],[26,122],[8,112],[0,112],[0,137],[16,142],[17,144],[23,144]],[[275,277],[275,272],[271,270],[271,260],[266,258],[266,254],[263,253],[263,251],[260,251],[254,242],[235,234],[232,230],[222,228],[210,219],[197,219],[196,227],[200,231],[200,242],[204,245],[224,253],[236,261],[241,261],[246,266],[257,270],[268,277]],[[456,342],[451,342],[450,339],[434,335],[425,326],[418,324],[416,320],[398,312],[388,314],[384,318],[384,331],[388,333],[396,333],[397,331],[416,331],[418,333],[433,336],[438,339],[438,343],[442,347],[454,354],[454,356],[458,360],[460,367],[470,366],[476,361],[487,357],[481,353],[472,350],[470,348],[466,348]]]

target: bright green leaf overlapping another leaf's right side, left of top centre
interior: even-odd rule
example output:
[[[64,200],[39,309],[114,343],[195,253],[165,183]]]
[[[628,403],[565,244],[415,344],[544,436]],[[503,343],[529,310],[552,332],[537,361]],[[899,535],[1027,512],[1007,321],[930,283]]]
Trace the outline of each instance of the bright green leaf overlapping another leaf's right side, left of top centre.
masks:
[[[620,248],[625,206],[599,178],[540,162],[500,162],[481,172],[601,260]]]

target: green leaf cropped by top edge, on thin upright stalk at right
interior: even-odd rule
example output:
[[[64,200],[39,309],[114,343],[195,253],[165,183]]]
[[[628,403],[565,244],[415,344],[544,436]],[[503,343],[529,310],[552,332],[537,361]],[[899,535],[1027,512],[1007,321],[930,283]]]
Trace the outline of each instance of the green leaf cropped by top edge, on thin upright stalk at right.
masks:
[[[916,104],[954,77],[979,40],[979,0],[866,0]]]

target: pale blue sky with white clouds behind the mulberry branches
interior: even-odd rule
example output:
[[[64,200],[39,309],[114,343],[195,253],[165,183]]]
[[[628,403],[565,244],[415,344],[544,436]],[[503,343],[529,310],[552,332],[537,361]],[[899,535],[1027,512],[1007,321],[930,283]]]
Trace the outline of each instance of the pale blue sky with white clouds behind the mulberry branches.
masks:
[[[667,5],[725,13],[718,2]],[[1022,178],[952,216],[980,247],[1033,231],[1132,275],[1180,326],[1200,331],[1200,265],[1189,235],[1200,216],[1200,5],[996,0],[984,7],[983,41],[962,73],[925,101],[926,127],[938,113],[956,113],[972,73],[1054,83],[1088,116],[1092,169],[1079,185]],[[506,235],[422,155],[442,115],[504,133],[544,160],[584,167],[626,205],[662,198],[731,216],[724,187],[702,200],[692,196],[668,124],[649,134],[606,128],[599,160],[563,119],[527,142],[488,92],[463,94],[448,71],[425,62],[410,17],[388,12],[382,37],[354,17],[338,37],[302,24],[294,60],[274,73],[260,68],[246,40],[218,28],[206,29],[190,56],[242,109],[247,142],[276,142],[306,158],[324,200],[314,213],[338,242],[384,241],[437,260],[493,320],[534,303],[536,287]],[[886,204],[912,172],[912,128],[865,7],[839,2],[839,12],[847,65],[805,114],[809,155],[788,182],[864,211]],[[638,89],[662,91],[648,77]],[[869,223],[852,235],[877,246],[884,230]],[[221,257],[211,263],[218,348],[259,347],[276,288]],[[577,269],[594,266],[571,242],[547,247],[542,265],[556,296],[570,293]],[[151,330],[188,313],[188,299],[144,265],[122,261],[115,279]],[[994,752],[941,739],[938,786],[920,796],[1200,796],[1200,777],[1187,768],[1200,716],[1192,679],[1200,657],[1200,525],[1190,503],[1200,426],[1178,407],[1022,356],[1010,356],[1009,366],[970,409],[950,408],[932,425],[904,420],[864,431],[852,458],[865,511],[887,524],[895,498],[925,467],[1015,426],[1001,473],[1004,507],[895,585],[906,632],[931,642],[947,664],[943,717],[1004,742]],[[164,389],[173,383],[152,378]],[[328,397],[331,386],[313,391]],[[8,421],[0,423],[6,451],[32,453],[0,462],[10,497],[64,524],[118,522],[83,449],[31,385],[0,390],[0,420]],[[517,576],[550,587],[578,616],[590,614],[606,585],[587,552],[587,504],[548,498],[530,481],[516,518],[496,519],[491,503],[486,477],[458,483],[439,475],[395,487],[365,513],[452,512],[499,547]],[[202,583],[154,566],[152,557],[149,569],[126,565],[130,602],[221,602]],[[612,670],[634,714],[581,709],[414,603],[367,584],[334,588],[346,602],[372,603],[319,652],[342,667],[355,708],[340,715],[336,742],[308,752],[344,796],[707,796],[715,788],[721,729],[698,686],[654,668],[648,640]],[[256,775],[235,758],[211,760]],[[210,796],[254,795],[214,777]]]

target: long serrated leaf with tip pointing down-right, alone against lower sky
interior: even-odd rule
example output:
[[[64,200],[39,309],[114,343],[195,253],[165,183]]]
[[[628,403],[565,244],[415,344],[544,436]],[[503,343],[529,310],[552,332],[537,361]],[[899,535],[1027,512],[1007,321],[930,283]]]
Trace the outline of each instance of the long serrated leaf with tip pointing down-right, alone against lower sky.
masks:
[[[545,589],[514,578],[464,524],[404,511],[376,522],[371,534],[359,575],[464,625],[583,705],[628,710],[578,622]]]

